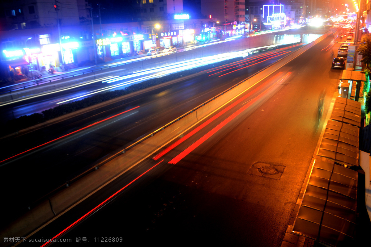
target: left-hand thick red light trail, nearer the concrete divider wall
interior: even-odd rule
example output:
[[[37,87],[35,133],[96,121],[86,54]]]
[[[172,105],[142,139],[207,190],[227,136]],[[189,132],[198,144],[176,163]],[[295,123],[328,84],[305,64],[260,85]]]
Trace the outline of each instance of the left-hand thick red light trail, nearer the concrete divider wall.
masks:
[[[252,90],[250,93],[248,93],[248,94],[244,95],[243,97],[241,97],[241,99],[236,100],[233,104],[231,104],[230,106],[228,106],[225,109],[221,110],[215,116],[213,116],[209,120],[205,121],[203,124],[201,124],[200,126],[198,126],[197,128],[195,128],[194,130],[192,130],[190,133],[186,134],[184,137],[180,138],[179,140],[175,141],[175,143],[171,144],[169,147],[167,147],[164,150],[162,150],[159,154],[157,154],[155,157],[153,157],[153,159],[154,160],[158,160],[159,158],[161,158],[162,156],[164,156],[165,154],[167,154],[168,152],[170,152],[171,150],[173,150],[175,147],[177,147],[179,144],[183,143],[183,141],[187,140],[188,138],[190,138],[191,136],[193,136],[194,134],[196,134],[198,131],[200,131],[202,128],[204,128],[205,126],[207,126],[208,124],[210,124],[212,121],[214,121],[215,119],[217,119],[218,117],[220,117],[221,115],[223,115],[224,113],[226,113],[227,111],[229,111],[230,109],[232,109],[233,107],[235,107],[237,104],[241,103],[247,97],[250,97],[251,95],[255,94],[257,91],[259,91],[260,89],[262,89],[266,84],[270,83],[270,81],[274,80],[276,77],[278,77],[282,73],[283,72],[279,72],[278,74],[276,74],[275,76],[273,76],[272,78],[270,78],[269,80],[267,80],[265,83],[263,83],[262,85],[260,85],[256,89]]]

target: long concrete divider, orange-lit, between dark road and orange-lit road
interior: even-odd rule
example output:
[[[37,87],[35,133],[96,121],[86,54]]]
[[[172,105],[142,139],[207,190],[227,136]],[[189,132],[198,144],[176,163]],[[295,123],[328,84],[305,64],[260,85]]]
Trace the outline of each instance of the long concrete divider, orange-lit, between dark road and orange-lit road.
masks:
[[[17,220],[4,226],[3,231],[0,232],[0,238],[26,236],[32,231],[37,231],[37,228],[43,227],[44,224],[53,221],[66,210],[70,210],[70,208],[91,196],[105,183],[114,181],[116,176],[125,174],[141,161],[155,156],[160,150],[200,124],[204,117],[212,116],[218,109],[230,104],[230,101],[236,99],[244,91],[260,83],[270,74],[279,71],[282,66],[308,51],[308,49],[311,49],[329,35],[330,33],[325,34],[295,52],[280,58],[265,69],[239,81],[236,85],[217,94],[212,99],[200,104],[200,106],[191,109],[176,120],[165,124],[136,143],[124,147],[119,153],[104,158],[92,170],[86,171],[83,175],[71,180],[68,188],[64,186],[37,204],[30,205],[29,211],[25,212]]]

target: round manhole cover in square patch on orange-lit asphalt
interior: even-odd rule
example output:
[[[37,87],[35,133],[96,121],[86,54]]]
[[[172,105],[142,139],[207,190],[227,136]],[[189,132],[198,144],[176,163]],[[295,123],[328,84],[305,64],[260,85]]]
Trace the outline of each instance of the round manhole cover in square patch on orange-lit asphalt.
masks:
[[[285,170],[285,166],[282,166],[281,164],[256,162],[250,167],[247,173],[259,177],[279,180],[283,170]]]

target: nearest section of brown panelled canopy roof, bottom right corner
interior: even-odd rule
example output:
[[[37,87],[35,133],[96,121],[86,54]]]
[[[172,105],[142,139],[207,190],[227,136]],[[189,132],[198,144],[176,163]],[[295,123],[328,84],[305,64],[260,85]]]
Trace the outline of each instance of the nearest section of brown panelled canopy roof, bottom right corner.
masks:
[[[315,160],[292,232],[330,246],[352,246],[357,180],[357,171]]]

